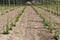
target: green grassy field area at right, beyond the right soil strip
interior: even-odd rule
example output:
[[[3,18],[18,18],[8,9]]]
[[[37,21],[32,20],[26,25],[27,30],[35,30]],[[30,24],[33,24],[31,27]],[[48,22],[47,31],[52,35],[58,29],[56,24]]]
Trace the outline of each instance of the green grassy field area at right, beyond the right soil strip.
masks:
[[[48,12],[51,12],[54,15],[60,16],[60,5],[37,5],[37,7],[42,8]]]

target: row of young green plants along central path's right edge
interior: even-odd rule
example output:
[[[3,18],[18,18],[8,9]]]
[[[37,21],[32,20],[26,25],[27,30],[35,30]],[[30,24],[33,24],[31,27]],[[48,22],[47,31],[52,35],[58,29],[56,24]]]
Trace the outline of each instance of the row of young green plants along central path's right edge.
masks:
[[[43,24],[47,27],[48,31],[49,31],[51,34],[54,35],[54,39],[55,39],[55,40],[59,40],[59,32],[53,29],[52,24],[50,24],[50,23],[48,22],[48,20],[45,19],[45,17],[36,10],[36,8],[34,8],[33,6],[31,6],[31,7],[34,9],[34,11],[37,13],[37,15],[39,15],[40,18],[43,19]],[[53,30],[54,30],[54,32],[53,32]]]

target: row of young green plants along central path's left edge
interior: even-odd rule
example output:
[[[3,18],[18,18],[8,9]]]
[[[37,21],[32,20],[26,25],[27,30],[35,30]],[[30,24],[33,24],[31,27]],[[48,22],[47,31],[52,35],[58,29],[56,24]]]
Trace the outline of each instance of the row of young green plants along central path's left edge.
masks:
[[[23,14],[24,10],[25,10],[26,6],[23,8],[22,12],[20,12],[17,16],[14,22],[12,22],[11,24],[7,24],[6,28],[4,28],[3,34],[9,34],[9,30],[12,30],[13,27],[16,27],[16,22],[19,21],[19,18],[21,17],[21,15]]]

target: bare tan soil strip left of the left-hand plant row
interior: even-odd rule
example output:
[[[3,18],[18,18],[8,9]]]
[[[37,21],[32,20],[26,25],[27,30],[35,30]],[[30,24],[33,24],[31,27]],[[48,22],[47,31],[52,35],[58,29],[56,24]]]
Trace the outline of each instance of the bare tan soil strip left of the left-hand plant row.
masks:
[[[16,16],[24,7],[19,7],[16,8],[13,11],[9,11],[5,15],[0,15],[0,34],[3,32],[3,28],[7,25],[7,19],[8,19],[8,24],[11,22],[14,22],[16,19]]]

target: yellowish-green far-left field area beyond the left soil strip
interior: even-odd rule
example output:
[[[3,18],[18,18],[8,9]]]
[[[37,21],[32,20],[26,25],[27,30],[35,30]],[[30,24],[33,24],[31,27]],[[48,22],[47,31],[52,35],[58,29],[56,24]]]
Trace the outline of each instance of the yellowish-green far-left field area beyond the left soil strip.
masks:
[[[0,6],[0,15],[4,15],[5,13],[11,12],[17,9],[19,6]]]

